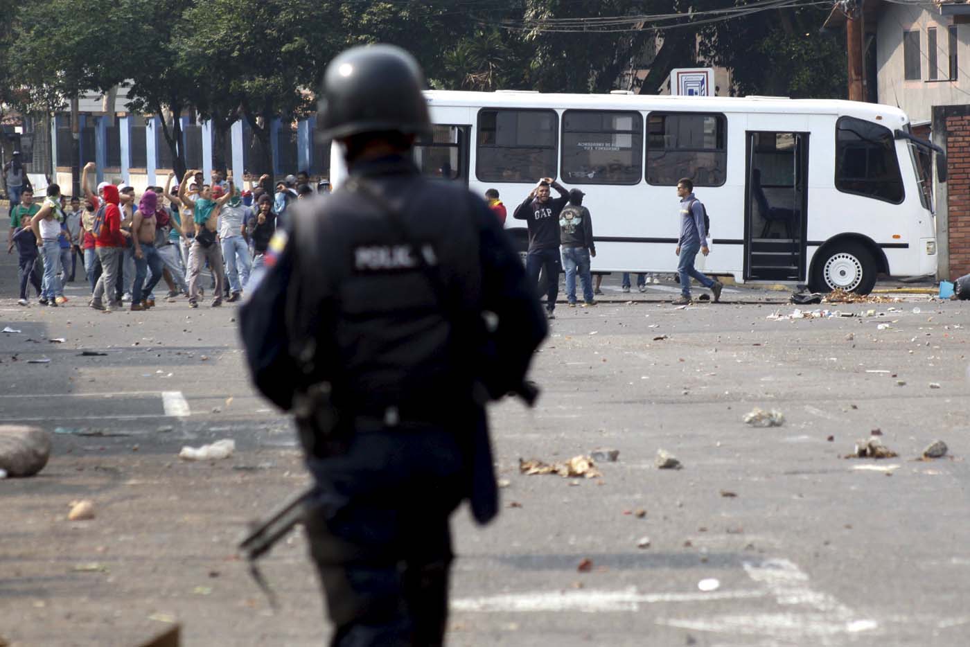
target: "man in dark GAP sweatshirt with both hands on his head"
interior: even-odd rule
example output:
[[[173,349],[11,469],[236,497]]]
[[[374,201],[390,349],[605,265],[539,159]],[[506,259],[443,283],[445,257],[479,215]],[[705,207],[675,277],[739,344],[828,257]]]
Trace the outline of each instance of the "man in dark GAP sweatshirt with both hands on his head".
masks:
[[[549,197],[549,187],[558,192],[559,198]],[[529,253],[526,256],[526,275],[533,285],[539,284],[539,272],[546,281],[546,315],[555,319],[556,298],[559,297],[559,215],[569,201],[563,185],[553,178],[542,178],[529,196],[512,213],[512,217],[525,220],[529,228]]]

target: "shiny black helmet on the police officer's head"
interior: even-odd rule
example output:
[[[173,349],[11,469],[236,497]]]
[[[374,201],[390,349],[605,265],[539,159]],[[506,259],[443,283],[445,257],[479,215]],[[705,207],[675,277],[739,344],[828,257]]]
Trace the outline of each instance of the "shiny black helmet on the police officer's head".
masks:
[[[431,130],[421,90],[424,73],[414,57],[391,45],[347,49],[323,75],[317,118],[324,139],[396,131]]]

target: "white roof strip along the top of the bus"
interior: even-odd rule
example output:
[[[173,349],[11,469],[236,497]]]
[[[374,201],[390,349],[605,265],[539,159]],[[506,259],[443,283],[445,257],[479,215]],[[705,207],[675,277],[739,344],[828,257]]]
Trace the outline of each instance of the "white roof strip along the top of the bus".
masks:
[[[559,94],[530,91],[471,92],[426,90],[431,106],[466,108],[546,108],[578,110],[674,110],[688,113],[797,113],[851,114],[884,121],[896,128],[909,121],[892,106],[843,99],[788,99],[785,97],[697,97],[663,94]],[[876,117],[880,117],[877,119]]]

